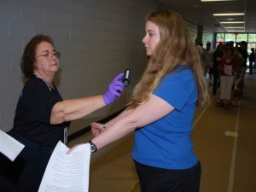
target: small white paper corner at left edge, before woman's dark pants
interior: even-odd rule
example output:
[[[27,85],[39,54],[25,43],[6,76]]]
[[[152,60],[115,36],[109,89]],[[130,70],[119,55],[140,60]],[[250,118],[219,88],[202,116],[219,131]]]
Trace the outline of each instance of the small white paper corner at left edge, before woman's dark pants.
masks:
[[[25,146],[0,130],[0,152],[14,161]]]

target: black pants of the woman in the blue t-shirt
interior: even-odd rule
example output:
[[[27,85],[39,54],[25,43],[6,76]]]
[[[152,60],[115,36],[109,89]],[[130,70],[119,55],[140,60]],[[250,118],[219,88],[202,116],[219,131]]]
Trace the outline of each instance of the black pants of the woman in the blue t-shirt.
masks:
[[[199,192],[201,164],[185,170],[145,166],[135,161],[142,192]]]

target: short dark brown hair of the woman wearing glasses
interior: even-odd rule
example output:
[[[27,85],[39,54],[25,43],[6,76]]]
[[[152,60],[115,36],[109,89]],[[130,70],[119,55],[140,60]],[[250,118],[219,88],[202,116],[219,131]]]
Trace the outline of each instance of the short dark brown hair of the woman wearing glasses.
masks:
[[[28,44],[26,44],[26,48],[24,49],[24,53],[21,57],[20,67],[21,71],[27,79],[32,77],[34,71],[34,61],[35,61],[35,50],[38,44],[42,42],[48,42],[54,46],[52,38],[46,35],[38,34],[34,36]]]

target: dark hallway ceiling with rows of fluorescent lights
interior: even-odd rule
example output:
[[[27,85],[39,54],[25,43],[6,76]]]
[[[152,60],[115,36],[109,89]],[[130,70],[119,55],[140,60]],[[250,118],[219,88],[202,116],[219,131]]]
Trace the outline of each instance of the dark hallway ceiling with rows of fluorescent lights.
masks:
[[[229,21],[229,17],[214,17],[213,14],[220,13],[245,13],[243,16],[232,16],[233,19],[244,21],[244,32],[256,32],[256,0],[235,0],[222,2],[201,2],[201,0],[159,0],[160,3],[177,13],[183,15],[188,20],[197,23],[198,26],[204,26],[211,32],[228,32],[227,25],[220,24],[220,21]],[[232,21],[235,21],[232,20]],[[235,26],[232,24],[230,26]],[[241,29],[233,29],[240,31]]]

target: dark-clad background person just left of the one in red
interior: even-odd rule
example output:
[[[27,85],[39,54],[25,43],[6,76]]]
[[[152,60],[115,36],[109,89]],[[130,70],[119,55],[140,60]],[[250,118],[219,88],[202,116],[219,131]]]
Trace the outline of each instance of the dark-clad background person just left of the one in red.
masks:
[[[212,83],[212,96],[216,96],[217,88],[219,87],[219,74],[218,74],[218,62],[224,55],[223,50],[224,44],[219,43],[216,50],[213,53],[213,65],[212,65],[212,76],[213,76],[213,83]]]

